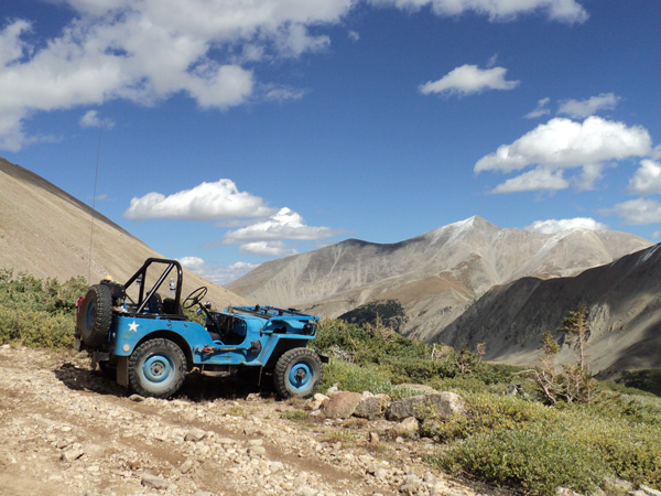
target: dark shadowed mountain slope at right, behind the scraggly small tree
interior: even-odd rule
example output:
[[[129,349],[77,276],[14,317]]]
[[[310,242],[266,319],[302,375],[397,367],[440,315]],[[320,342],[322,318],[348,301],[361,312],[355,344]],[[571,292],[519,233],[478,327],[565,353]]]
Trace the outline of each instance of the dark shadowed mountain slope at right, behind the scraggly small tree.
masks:
[[[568,311],[588,309],[588,362],[602,377],[624,369],[661,368],[661,245],[625,256],[576,277],[523,278],[492,288],[438,338],[487,344],[487,358],[534,362],[541,335]],[[571,360],[564,346],[562,360]]]

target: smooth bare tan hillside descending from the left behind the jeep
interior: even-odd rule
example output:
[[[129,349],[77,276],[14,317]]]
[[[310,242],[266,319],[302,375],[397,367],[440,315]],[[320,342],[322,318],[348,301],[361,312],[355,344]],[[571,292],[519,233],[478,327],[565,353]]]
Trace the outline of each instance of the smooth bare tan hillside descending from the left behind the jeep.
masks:
[[[161,256],[59,187],[0,158],[0,269],[61,281],[90,272],[93,282],[107,274],[126,281],[149,257]],[[217,308],[247,302],[185,271],[184,294],[201,285],[209,288]]]

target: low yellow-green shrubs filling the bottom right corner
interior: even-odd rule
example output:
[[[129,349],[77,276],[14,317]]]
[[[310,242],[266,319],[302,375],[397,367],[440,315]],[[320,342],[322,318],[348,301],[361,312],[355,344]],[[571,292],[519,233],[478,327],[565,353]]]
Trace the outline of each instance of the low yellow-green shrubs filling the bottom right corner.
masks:
[[[661,487],[658,400],[633,401],[642,412],[637,416],[613,398],[546,407],[507,396],[463,396],[465,417],[423,425],[425,435],[449,443],[433,462],[438,466],[533,494],[551,494],[555,486],[585,492],[606,474]]]

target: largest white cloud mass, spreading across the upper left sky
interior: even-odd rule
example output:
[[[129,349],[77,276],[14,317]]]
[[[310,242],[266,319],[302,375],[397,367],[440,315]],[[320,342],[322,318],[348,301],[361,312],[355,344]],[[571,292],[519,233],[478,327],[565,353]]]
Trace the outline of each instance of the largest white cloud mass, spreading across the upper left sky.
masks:
[[[51,40],[14,20],[0,31],[0,148],[36,138],[24,121],[39,111],[128,99],[153,105],[184,93],[225,109],[256,95],[249,60],[269,62],[325,48],[325,34],[354,0],[57,0],[74,11]]]

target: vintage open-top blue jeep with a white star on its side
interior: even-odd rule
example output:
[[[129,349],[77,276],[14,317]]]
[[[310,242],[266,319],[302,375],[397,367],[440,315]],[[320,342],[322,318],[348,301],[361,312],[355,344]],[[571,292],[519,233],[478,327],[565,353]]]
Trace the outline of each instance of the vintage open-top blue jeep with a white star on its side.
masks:
[[[226,376],[241,367],[272,375],[284,398],[314,392],[325,359],[306,345],[318,317],[260,305],[213,311],[206,287],[182,301],[182,280],[176,260],[150,258],[124,284],[91,285],[77,303],[76,349],[142,396],[173,396],[194,368]],[[184,314],[193,306],[205,325]]]

